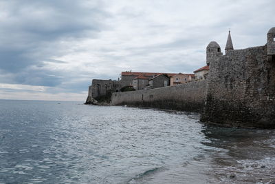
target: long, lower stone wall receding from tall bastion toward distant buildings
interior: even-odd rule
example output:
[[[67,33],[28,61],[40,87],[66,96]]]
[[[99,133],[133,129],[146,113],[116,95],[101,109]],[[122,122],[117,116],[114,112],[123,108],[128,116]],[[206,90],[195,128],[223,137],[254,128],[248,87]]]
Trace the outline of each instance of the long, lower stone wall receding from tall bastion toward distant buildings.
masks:
[[[201,112],[206,99],[206,81],[152,90],[115,92],[111,96],[111,104]]]

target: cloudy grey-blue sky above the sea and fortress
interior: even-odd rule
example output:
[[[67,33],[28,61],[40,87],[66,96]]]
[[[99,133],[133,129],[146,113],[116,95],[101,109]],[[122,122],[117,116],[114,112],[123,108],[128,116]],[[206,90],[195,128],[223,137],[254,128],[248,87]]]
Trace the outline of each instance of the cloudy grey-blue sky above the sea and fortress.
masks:
[[[0,99],[85,101],[122,71],[192,73],[206,46],[265,45],[274,0],[0,0]]]

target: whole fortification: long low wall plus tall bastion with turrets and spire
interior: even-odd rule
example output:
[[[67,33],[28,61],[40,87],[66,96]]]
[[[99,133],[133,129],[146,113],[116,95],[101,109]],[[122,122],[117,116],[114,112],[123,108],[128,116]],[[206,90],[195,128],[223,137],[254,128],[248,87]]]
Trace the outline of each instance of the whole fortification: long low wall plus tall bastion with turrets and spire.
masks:
[[[113,105],[201,112],[201,121],[236,127],[275,127],[275,28],[267,44],[234,50],[230,32],[225,55],[217,42],[206,48],[206,81],[113,93]]]

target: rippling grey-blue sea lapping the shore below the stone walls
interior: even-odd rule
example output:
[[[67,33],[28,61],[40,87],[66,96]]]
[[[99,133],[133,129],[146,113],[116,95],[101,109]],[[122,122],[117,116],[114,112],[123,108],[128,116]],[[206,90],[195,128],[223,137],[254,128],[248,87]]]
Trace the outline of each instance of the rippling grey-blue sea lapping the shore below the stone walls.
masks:
[[[275,183],[275,130],[199,114],[0,100],[0,183]]]

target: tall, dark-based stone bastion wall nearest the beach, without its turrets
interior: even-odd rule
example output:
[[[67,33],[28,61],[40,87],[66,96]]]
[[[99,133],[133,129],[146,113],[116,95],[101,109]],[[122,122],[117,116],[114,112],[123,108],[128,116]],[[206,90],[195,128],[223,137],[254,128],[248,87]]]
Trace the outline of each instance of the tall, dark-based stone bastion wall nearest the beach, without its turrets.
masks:
[[[229,50],[210,63],[202,121],[275,127],[275,62],[267,47]]]

